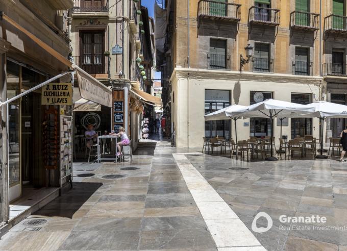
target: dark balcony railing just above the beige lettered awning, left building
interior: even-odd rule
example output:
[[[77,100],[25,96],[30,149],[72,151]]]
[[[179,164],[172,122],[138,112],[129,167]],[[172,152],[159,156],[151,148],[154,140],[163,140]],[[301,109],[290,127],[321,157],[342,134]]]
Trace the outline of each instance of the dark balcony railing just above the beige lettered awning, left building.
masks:
[[[89,74],[106,74],[108,57],[104,55],[74,56],[73,61]]]

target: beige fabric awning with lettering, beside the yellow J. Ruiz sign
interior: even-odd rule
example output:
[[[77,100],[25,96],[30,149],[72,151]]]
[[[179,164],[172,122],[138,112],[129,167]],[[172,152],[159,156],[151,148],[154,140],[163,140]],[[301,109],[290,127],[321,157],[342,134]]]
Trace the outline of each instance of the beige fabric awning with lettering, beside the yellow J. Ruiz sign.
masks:
[[[78,87],[81,97],[103,106],[112,107],[112,90],[90,76],[77,65],[72,65],[76,70]]]

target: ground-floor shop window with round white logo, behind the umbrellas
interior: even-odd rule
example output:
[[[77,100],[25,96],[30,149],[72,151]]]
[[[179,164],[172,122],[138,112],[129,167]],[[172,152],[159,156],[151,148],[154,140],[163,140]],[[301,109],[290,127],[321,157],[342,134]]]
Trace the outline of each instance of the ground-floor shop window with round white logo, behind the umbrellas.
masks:
[[[250,105],[272,98],[272,92],[250,92]],[[271,135],[271,120],[269,118],[250,118],[250,136],[264,137]]]

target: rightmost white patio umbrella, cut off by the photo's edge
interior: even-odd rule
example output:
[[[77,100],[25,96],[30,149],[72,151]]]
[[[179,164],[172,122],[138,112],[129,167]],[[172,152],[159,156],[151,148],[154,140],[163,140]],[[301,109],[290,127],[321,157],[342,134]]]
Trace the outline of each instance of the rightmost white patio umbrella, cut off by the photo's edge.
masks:
[[[326,101],[318,101],[306,105],[309,109],[314,109],[313,112],[308,114],[303,114],[301,117],[309,118],[319,118],[320,122],[320,132],[319,132],[319,141],[320,141],[320,155],[317,155],[317,158],[327,159],[328,156],[323,155],[323,129],[324,129],[324,120],[327,117],[330,118],[347,118],[347,106],[339,105],[335,103],[330,103]]]

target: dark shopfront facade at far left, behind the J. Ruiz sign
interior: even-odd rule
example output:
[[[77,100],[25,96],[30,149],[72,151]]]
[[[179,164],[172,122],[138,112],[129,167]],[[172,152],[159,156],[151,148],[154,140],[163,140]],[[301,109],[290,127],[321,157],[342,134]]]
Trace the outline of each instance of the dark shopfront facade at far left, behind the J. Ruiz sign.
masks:
[[[26,91],[54,77],[71,81],[66,18],[72,7],[71,0],[0,1],[0,101],[11,100],[0,106],[0,228],[59,196],[67,182],[58,129],[68,108],[41,105],[41,88]]]

